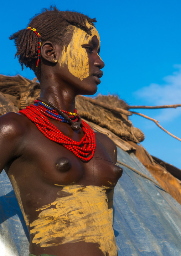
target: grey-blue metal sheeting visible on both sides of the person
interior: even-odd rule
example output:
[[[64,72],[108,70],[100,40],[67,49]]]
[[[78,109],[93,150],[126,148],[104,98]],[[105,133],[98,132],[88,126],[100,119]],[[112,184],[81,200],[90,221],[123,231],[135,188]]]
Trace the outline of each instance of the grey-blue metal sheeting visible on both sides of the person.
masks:
[[[155,180],[133,153],[118,148],[118,160]],[[152,181],[126,173],[114,192],[114,231],[119,256],[180,256],[181,205]],[[6,173],[0,175],[0,255],[28,256],[26,224]]]

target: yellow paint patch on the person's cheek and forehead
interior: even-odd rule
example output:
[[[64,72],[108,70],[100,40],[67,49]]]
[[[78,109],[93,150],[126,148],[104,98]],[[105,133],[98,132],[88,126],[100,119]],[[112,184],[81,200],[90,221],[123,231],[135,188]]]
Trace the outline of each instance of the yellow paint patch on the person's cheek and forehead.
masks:
[[[93,27],[88,22],[86,22],[86,25],[88,28]],[[99,49],[100,37],[95,27],[91,30],[91,35],[88,35],[87,32],[78,27],[73,26],[72,28],[72,39],[67,49],[66,45],[63,46],[63,51],[58,62],[60,67],[67,66],[69,72],[82,81],[83,78],[89,76],[89,59],[87,51],[85,48],[82,48],[82,45],[90,43],[92,37],[97,36],[97,39],[99,40]]]

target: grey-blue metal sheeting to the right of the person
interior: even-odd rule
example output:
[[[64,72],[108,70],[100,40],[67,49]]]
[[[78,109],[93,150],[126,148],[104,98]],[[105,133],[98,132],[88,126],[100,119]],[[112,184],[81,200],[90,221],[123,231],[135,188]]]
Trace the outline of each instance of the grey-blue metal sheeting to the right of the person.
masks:
[[[155,180],[133,153],[118,160]],[[181,205],[150,180],[122,165],[114,193],[114,230],[119,256],[180,256]],[[155,180],[156,181],[156,180]]]

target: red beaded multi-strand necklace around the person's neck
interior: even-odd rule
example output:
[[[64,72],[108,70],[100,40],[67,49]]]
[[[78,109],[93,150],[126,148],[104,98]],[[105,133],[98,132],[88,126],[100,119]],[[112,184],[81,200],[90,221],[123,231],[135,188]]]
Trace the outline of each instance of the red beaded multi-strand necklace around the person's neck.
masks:
[[[53,109],[53,114],[47,114],[46,110],[47,107],[50,109],[47,104],[44,104],[47,106],[42,106],[42,104],[38,105],[39,101],[35,101],[35,104],[31,104],[30,106],[27,106],[25,109],[22,109],[19,111],[19,113],[24,114],[27,116],[40,130],[41,133],[43,133],[48,139],[61,144],[63,147],[67,148],[71,152],[73,152],[78,158],[84,161],[89,161],[93,158],[94,152],[95,152],[95,133],[93,129],[82,120],[82,129],[84,132],[83,138],[77,142],[68,136],[64,135],[57,127],[55,127],[46,116],[49,118],[56,119],[60,122],[62,122],[61,118],[56,118],[53,115],[59,116],[60,113],[55,111]],[[41,101],[40,101],[41,102]],[[41,102],[42,103],[42,102]],[[61,110],[62,111],[62,110]],[[67,114],[67,116],[75,120],[77,118],[77,111],[75,109],[74,113],[70,113],[67,111],[62,111]],[[46,114],[46,116],[45,116]],[[81,144],[83,144],[83,147],[79,147]],[[89,155],[89,156],[88,156]]]

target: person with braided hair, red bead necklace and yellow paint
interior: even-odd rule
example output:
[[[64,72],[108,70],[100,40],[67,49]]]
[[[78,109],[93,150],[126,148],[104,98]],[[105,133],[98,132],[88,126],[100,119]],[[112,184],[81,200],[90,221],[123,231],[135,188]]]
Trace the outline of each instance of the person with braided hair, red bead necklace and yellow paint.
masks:
[[[103,75],[93,22],[53,8],[10,37],[22,67],[41,84],[34,105],[0,117],[0,171],[9,176],[24,214],[31,256],[117,255],[117,148],[81,123],[74,104],[77,94],[94,94]]]

